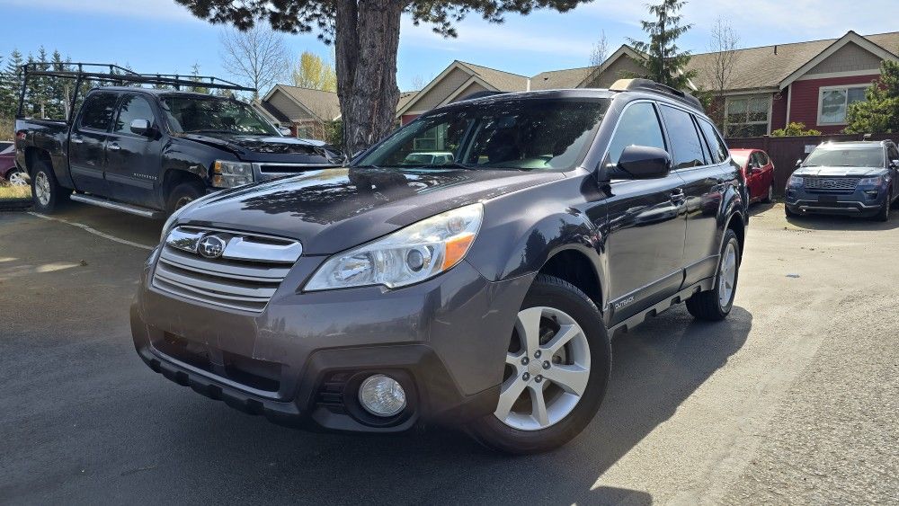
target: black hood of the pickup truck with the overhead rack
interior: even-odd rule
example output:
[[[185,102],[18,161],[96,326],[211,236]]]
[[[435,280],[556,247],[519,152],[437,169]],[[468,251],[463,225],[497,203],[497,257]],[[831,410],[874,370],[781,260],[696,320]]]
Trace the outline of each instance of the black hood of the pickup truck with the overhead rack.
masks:
[[[341,159],[337,148],[312,139],[207,133],[185,133],[178,137],[218,147],[246,162],[339,164]]]

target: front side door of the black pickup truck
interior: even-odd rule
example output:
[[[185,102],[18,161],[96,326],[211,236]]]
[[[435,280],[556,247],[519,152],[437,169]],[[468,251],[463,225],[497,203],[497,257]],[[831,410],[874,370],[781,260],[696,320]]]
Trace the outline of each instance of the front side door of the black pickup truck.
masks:
[[[106,180],[112,197],[133,204],[154,206],[163,140],[158,132],[138,135],[131,121],[147,120],[156,127],[156,108],[142,93],[126,94],[120,102],[106,146]]]

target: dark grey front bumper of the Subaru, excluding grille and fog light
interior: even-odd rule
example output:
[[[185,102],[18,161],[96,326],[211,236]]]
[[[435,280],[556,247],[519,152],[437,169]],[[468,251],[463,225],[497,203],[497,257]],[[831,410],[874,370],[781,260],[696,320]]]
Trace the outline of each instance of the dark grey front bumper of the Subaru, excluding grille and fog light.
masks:
[[[147,263],[131,327],[138,355],[172,381],[271,422],[333,431],[459,425],[492,413],[509,337],[532,276],[488,282],[461,262],[405,289],[299,293],[323,257],[301,258],[261,314],[158,291]],[[388,420],[360,409],[373,373],[403,384]]]

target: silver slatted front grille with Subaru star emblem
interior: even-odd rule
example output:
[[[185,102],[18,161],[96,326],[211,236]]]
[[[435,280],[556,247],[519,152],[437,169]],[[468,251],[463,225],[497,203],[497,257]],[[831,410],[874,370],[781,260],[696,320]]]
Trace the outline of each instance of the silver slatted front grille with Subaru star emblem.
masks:
[[[289,239],[179,226],[165,238],[153,286],[232,309],[261,313],[302,246]]]

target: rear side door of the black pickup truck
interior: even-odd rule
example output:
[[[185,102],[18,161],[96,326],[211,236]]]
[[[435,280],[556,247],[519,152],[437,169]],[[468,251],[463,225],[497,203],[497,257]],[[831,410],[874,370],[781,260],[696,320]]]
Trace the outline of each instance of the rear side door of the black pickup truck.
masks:
[[[68,142],[68,164],[77,191],[109,196],[106,170],[106,141],[119,95],[91,93],[78,113]]]

